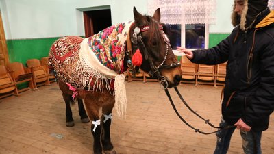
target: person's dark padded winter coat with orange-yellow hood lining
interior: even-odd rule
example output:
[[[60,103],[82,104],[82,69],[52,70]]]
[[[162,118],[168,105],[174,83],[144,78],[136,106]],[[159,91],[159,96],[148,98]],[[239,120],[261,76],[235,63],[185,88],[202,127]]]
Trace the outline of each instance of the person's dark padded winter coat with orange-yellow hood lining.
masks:
[[[223,119],[234,125],[242,118],[253,131],[264,131],[274,110],[274,11],[265,10],[253,25],[245,31],[236,27],[216,47],[192,51],[191,61],[227,61]]]

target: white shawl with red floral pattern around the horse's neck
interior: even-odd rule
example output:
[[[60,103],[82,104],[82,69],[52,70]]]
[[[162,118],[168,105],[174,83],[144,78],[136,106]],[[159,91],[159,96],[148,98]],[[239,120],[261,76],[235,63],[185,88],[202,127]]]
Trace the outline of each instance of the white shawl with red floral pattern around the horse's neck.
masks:
[[[119,74],[124,72],[123,62],[129,28],[126,25],[129,23],[112,25],[88,38],[88,46],[99,62]]]

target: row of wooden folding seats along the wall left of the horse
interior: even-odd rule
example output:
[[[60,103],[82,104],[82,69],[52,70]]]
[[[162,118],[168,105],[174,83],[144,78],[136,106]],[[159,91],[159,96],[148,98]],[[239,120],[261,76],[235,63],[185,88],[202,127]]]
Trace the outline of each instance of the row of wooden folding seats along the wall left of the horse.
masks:
[[[38,90],[38,86],[50,85],[55,81],[54,75],[49,74],[48,59],[42,57],[40,60],[27,60],[27,67],[21,62],[0,65],[0,99],[12,94],[18,96],[26,90]],[[18,88],[24,83],[27,86]]]

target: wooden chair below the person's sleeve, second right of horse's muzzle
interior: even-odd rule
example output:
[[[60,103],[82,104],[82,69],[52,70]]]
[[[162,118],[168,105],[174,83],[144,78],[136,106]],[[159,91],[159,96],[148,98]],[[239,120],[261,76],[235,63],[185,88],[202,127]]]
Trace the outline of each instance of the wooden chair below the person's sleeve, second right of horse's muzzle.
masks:
[[[198,64],[197,84],[213,84],[216,87],[215,65]]]

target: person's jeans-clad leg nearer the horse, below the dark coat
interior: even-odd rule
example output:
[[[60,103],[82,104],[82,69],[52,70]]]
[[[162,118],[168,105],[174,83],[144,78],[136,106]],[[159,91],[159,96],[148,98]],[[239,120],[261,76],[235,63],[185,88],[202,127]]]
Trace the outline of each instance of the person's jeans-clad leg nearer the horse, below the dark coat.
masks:
[[[225,123],[225,120],[221,118],[220,127],[226,127],[228,126],[227,123]],[[217,136],[217,143],[216,148],[214,151],[214,154],[225,154],[228,151],[230,139],[232,137],[232,133],[234,132],[235,127],[229,128],[229,129],[223,129],[221,131],[216,132]]]

